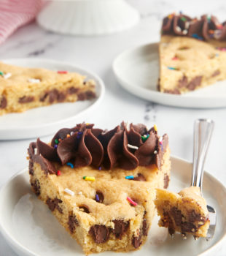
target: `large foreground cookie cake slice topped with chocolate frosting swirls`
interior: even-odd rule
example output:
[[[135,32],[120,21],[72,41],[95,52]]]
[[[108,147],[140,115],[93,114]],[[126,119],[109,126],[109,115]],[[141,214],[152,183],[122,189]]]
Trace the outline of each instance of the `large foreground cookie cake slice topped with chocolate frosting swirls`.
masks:
[[[155,215],[155,188],[170,179],[168,135],[157,127],[93,124],[61,129],[28,148],[35,194],[85,254],[139,249]]]

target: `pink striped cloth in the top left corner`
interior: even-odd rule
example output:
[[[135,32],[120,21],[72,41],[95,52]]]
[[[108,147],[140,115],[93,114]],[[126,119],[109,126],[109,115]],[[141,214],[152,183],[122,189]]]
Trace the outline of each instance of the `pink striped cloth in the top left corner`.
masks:
[[[0,0],[0,44],[16,29],[34,20],[42,0]]]

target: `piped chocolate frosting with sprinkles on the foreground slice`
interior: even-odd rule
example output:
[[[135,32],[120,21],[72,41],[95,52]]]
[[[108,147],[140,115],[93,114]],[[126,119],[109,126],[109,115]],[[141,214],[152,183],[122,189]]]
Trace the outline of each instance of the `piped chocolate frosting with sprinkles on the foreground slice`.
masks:
[[[157,132],[144,124],[124,122],[110,131],[93,128],[93,124],[77,124],[71,129],[60,129],[49,144],[39,138],[28,148],[30,159],[39,162],[44,170],[55,173],[54,162],[74,167],[93,165],[96,168],[120,167],[133,170],[139,165],[155,164],[161,160],[168,146],[168,136],[160,138]],[[36,151],[36,153],[35,153]]]

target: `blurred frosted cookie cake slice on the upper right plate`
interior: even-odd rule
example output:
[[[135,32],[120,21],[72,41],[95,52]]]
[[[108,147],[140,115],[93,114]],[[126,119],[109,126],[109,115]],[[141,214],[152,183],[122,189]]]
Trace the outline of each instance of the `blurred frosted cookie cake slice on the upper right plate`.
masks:
[[[158,89],[184,94],[226,79],[226,22],[182,13],[163,19]]]

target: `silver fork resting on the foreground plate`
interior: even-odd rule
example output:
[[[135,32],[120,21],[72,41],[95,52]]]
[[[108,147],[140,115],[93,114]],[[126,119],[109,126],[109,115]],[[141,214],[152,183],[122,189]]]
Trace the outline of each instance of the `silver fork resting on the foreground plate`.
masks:
[[[197,119],[194,124],[194,151],[193,151],[193,169],[192,183],[193,187],[200,187],[201,195],[203,187],[203,168],[206,160],[206,154],[209,148],[209,142],[214,129],[214,121],[211,119]],[[216,227],[216,211],[213,207],[207,206],[209,211],[209,230],[206,240],[214,236]]]

